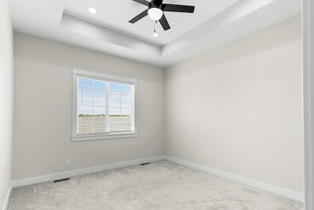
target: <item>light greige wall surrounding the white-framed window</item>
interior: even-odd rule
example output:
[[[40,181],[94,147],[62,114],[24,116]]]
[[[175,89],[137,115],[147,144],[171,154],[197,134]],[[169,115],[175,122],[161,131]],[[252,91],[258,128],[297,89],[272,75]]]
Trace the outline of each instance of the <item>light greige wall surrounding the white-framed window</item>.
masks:
[[[13,180],[165,153],[163,69],[21,33],[14,43]],[[138,78],[137,138],[71,141],[72,67]]]

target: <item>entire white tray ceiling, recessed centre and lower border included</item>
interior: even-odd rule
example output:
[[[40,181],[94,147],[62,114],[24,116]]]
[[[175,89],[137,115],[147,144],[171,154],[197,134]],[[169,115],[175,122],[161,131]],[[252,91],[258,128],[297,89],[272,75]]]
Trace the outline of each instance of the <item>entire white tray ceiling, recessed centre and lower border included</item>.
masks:
[[[14,30],[53,41],[167,67],[301,12],[301,0],[164,0],[195,6],[194,13],[164,12],[170,30],[132,0],[10,0]],[[98,13],[91,14],[88,6]]]

